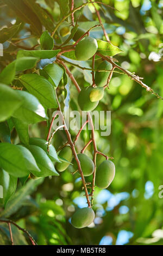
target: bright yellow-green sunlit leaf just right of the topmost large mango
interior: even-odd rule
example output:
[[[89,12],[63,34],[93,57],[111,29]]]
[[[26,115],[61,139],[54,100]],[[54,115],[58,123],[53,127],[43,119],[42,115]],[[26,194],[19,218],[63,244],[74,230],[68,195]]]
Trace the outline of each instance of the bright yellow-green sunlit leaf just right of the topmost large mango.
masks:
[[[102,53],[104,56],[114,56],[120,52],[123,52],[120,48],[117,46],[112,45],[111,43],[108,43],[103,40],[97,40],[98,44],[98,52]]]

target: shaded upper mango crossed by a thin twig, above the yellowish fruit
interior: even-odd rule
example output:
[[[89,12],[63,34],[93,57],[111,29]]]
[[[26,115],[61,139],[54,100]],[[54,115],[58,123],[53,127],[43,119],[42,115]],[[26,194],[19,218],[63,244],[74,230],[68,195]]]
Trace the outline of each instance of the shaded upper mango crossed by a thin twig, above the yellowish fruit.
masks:
[[[101,64],[99,64],[97,70],[111,70],[112,65],[108,61],[103,61]],[[98,87],[103,87],[107,84],[108,77],[109,77],[110,71],[108,72],[96,72],[95,74],[95,84]]]

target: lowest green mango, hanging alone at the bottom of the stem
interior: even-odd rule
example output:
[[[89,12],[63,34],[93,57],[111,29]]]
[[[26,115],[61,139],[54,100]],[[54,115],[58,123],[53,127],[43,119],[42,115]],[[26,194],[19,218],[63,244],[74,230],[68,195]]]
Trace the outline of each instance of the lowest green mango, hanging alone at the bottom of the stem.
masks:
[[[74,228],[82,229],[89,226],[95,219],[95,212],[91,208],[79,209],[71,218]]]

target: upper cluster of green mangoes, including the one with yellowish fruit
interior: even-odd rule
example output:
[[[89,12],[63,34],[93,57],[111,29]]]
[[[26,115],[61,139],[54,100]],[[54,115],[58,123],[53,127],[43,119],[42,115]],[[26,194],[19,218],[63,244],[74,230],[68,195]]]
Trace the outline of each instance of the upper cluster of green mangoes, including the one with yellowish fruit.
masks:
[[[76,34],[73,37],[73,40],[77,41],[85,31],[82,28],[78,28]],[[95,38],[92,37],[85,37],[84,39],[80,40],[75,49],[76,58],[79,61],[87,61],[93,55],[95,55],[98,48],[98,44]],[[111,70],[112,65],[108,61],[103,61],[97,67],[97,70]],[[95,85],[97,86],[94,88],[93,86],[88,86],[82,89],[79,93],[78,97],[78,104],[80,109],[83,111],[92,111],[94,110],[99,100],[104,97],[104,86],[107,84],[108,77],[110,71],[108,72],[96,72],[95,74]],[[84,100],[83,100],[84,99]]]

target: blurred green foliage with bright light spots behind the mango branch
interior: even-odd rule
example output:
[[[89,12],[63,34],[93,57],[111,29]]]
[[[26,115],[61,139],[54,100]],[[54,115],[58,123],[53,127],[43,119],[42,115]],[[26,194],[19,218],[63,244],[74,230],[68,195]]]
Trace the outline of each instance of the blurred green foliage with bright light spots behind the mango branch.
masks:
[[[59,20],[60,8],[57,1],[36,2],[55,21]],[[77,7],[85,1],[74,2]],[[96,4],[111,43],[123,50],[115,56],[118,64],[135,72],[143,78],[145,84],[163,96],[163,1],[101,2],[119,10],[113,11],[105,5]],[[99,23],[92,5],[77,12],[75,20],[78,16],[78,24],[85,30]],[[1,27],[18,22],[15,18],[12,10],[1,7]],[[66,23],[63,26],[65,25]],[[28,25],[23,27],[19,37],[24,37],[24,34],[29,35]],[[101,27],[93,29],[90,35],[105,40]],[[26,41],[26,46],[32,47],[35,43],[36,39],[32,38]],[[9,52],[14,51],[14,46],[9,42],[4,47],[6,50],[1,59],[1,69],[7,60],[9,62],[13,58]],[[73,63],[77,64],[77,61]],[[82,64],[83,67],[89,67],[91,62]],[[89,71],[68,67],[80,87],[91,83]],[[79,110],[78,93],[71,81],[69,84],[70,109]],[[74,229],[70,224],[73,212],[78,207],[86,206],[82,182],[78,174],[72,176],[72,167],[60,177],[37,180],[35,192],[32,189],[28,192],[31,195],[28,195],[11,218],[28,229],[40,245],[163,245],[163,192],[162,198],[161,193],[159,196],[159,187],[163,185],[163,102],[127,75],[114,73],[109,87],[96,110],[111,111],[111,134],[101,136],[100,130],[96,130],[95,134],[98,150],[114,157],[115,179],[108,189],[96,188],[93,206],[96,211],[95,223],[82,230]],[[59,86],[58,94],[63,103],[65,98],[62,88],[62,85]],[[77,132],[71,130],[73,138]],[[46,134],[46,123],[30,126],[30,136],[44,139]],[[90,131],[83,130],[77,142],[78,152],[89,138]],[[15,130],[12,131],[12,141],[19,142]],[[58,148],[65,142],[64,131],[59,131],[54,136],[53,145]],[[92,153],[90,145],[86,154],[92,158]],[[98,156],[97,165],[103,160],[102,156]],[[29,182],[33,186],[34,181]],[[19,186],[22,189],[21,184]],[[17,193],[20,193],[19,190]],[[5,228],[3,233],[7,235]],[[1,236],[2,233],[0,239]],[[20,239],[19,243],[26,243],[21,233],[17,239]]]

